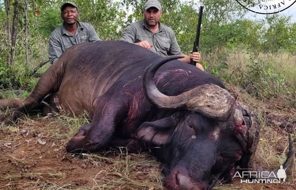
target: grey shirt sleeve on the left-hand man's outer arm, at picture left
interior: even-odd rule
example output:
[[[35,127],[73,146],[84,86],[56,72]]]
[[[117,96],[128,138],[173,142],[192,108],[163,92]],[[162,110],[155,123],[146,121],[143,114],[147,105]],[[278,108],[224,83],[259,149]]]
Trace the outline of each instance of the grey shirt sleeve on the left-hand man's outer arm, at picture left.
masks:
[[[49,38],[49,47],[48,47],[49,62],[51,64],[55,63],[59,59],[59,57],[62,55],[62,53],[63,51],[62,51],[62,47],[59,39],[53,34],[51,34]]]

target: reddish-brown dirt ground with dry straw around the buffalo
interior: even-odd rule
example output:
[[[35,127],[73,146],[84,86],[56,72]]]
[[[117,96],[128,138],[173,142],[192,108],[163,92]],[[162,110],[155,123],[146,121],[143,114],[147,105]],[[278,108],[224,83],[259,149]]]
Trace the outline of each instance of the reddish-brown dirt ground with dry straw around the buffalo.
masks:
[[[269,113],[266,118],[270,126],[261,131],[261,136],[265,137],[260,139],[258,151],[261,155],[258,160],[266,167],[279,166],[281,163],[277,158],[270,161],[264,154],[269,154],[269,149],[276,149],[278,157],[283,157],[283,152],[287,153],[288,135],[280,128],[285,118]],[[147,153],[130,154],[124,148],[93,155],[66,153],[64,147],[69,139],[69,125],[65,123],[57,116],[34,116],[0,128],[0,190],[163,189],[160,165]],[[296,125],[293,122],[291,125],[289,130],[294,132],[295,138]],[[265,146],[268,138],[282,143]],[[231,185],[218,185],[214,189],[296,190],[293,176],[287,182],[276,185],[241,184],[240,180],[234,180]]]

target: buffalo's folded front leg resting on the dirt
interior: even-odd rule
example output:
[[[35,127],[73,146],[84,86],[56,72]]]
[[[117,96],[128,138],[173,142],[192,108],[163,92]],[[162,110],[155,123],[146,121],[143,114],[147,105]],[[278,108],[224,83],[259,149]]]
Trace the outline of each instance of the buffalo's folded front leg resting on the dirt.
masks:
[[[118,95],[114,98],[107,96],[97,98],[91,124],[81,127],[70,139],[67,152],[97,152],[109,145],[116,125],[125,118],[127,110]]]

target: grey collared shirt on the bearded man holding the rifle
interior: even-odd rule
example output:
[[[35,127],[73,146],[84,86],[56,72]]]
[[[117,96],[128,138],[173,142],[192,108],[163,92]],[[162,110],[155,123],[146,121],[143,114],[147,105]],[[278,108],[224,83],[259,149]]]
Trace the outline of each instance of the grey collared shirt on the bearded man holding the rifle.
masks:
[[[183,55],[173,30],[159,23],[159,29],[153,33],[144,19],[127,25],[120,38],[122,41],[137,43],[147,40],[153,47],[151,51],[160,56]]]

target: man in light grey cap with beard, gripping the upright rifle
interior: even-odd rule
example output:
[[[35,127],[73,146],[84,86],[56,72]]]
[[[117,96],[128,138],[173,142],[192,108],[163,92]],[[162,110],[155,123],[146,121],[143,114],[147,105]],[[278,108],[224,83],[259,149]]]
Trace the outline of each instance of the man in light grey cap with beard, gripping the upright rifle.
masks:
[[[173,30],[159,22],[162,8],[158,0],[148,0],[144,4],[143,14],[143,20],[127,25],[120,40],[145,47],[163,57],[184,55]],[[190,63],[192,59],[199,69],[204,70],[202,65],[198,63],[201,58],[198,52],[184,56],[179,60]]]

